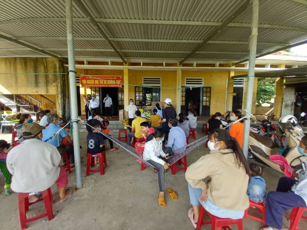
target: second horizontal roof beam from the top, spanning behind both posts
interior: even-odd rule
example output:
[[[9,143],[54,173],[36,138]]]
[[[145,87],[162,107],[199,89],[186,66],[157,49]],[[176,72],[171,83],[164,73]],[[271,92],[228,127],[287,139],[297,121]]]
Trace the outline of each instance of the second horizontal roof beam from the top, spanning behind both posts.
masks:
[[[16,40],[64,40],[66,41],[66,37],[12,37]],[[105,41],[104,38],[101,37],[74,37],[74,40],[78,41]],[[181,40],[181,39],[138,39],[138,38],[109,38],[111,41],[133,41],[133,42],[169,42],[169,43],[202,43],[203,40]],[[0,39],[1,41],[1,39]],[[210,44],[248,44],[247,41],[214,41],[210,40],[207,43]],[[279,45],[280,47],[289,45],[289,43],[281,43],[281,42],[257,42],[259,45]]]

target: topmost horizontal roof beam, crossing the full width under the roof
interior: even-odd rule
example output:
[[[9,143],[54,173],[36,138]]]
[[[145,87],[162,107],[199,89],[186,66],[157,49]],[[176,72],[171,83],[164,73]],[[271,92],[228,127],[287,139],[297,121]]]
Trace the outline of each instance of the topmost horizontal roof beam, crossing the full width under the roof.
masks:
[[[294,0],[291,0],[294,1]],[[94,19],[94,17],[93,17]],[[208,26],[208,27],[220,27],[222,22],[211,22],[211,21],[177,21],[177,20],[142,20],[142,19],[118,19],[118,18],[95,18],[98,23],[121,23],[121,24],[145,24],[145,25],[172,25],[172,26]],[[20,23],[39,23],[39,22],[65,22],[65,18],[24,18],[14,19],[7,21],[0,21],[1,25],[9,24],[20,24]],[[74,22],[91,22],[89,18],[74,18]],[[250,28],[250,23],[235,23],[230,22],[227,27],[246,27]],[[304,28],[270,25],[270,24],[259,24],[258,28],[264,29],[276,29],[276,30],[288,30],[307,33]]]

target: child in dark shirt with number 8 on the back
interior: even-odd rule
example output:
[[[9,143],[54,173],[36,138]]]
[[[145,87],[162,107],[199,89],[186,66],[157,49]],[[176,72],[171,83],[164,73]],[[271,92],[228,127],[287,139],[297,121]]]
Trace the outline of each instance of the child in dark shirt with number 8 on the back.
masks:
[[[101,130],[100,128],[100,121],[98,120],[93,120],[91,125],[98,129]],[[86,140],[87,140],[87,152],[95,155],[97,153],[100,153],[105,150],[104,148],[104,140],[103,140],[103,135],[100,134],[96,129],[92,128],[92,132],[87,134]],[[99,165],[98,157],[95,156],[95,165]]]

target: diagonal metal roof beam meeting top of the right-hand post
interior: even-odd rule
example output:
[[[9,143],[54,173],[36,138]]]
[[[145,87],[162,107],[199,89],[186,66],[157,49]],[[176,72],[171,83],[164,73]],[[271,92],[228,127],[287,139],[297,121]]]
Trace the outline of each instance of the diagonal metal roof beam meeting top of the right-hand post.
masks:
[[[193,49],[193,51],[191,53],[189,53],[188,55],[186,55],[180,62],[179,64],[181,65],[185,60],[187,60],[189,57],[191,57],[196,51],[198,51],[199,49],[201,49],[211,38],[213,38],[215,35],[217,35],[218,33],[220,33],[233,19],[235,19],[240,13],[242,13],[243,11],[245,11],[248,7],[248,5],[250,4],[249,0],[246,0],[243,2],[243,4],[234,12],[232,12],[232,14],[222,23],[221,26],[215,28],[208,36],[205,40],[203,40],[202,43],[196,45],[196,47]]]

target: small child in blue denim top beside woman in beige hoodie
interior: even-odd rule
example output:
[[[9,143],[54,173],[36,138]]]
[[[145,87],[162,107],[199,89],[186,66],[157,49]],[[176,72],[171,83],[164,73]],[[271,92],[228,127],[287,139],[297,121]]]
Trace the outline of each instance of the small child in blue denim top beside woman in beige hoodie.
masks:
[[[263,168],[257,164],[249,164],[251,177],[247,187],[247,195],[254,202],[264,202],[267,196],[266,181],[261,177]]]

